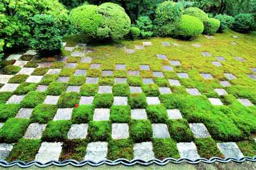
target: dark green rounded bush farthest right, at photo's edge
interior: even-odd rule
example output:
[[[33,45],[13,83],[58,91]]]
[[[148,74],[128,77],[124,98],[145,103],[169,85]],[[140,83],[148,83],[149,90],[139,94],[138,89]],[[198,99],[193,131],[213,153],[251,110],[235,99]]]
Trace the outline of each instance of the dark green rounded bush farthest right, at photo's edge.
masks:
[[[249,32],[254,27],[252,14],[238,14],[234,17],[233,29],[237,32]]]

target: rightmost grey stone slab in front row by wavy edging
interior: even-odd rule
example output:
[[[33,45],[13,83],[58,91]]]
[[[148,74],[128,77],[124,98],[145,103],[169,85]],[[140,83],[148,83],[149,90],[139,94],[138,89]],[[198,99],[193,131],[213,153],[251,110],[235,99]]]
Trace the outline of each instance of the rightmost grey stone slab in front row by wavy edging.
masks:
[[[243,158],[243,154],[234,142],[217,143],[218,149],[222,152],[225,158]]]

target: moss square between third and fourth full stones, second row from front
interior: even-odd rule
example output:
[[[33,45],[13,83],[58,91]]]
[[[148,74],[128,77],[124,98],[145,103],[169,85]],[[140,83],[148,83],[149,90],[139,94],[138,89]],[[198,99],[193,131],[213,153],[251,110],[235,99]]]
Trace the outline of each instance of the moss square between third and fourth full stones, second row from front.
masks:
[[[131,122],[130,137],[133,142],[150,141],[152,138],[152,126],[148,120],[137,120]]]

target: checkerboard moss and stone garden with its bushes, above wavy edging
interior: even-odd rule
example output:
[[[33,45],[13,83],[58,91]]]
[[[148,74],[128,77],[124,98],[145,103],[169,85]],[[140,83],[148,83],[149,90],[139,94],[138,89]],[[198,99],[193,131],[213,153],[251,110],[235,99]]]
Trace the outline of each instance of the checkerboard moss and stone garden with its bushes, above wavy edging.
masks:
[[[24,25],[0,30],[0,159],[256,155],[253,15],[179,1],[137,18],[114,3],[68,14],[49,0],[41,15],[24,2],[14,16],[0,9]]]

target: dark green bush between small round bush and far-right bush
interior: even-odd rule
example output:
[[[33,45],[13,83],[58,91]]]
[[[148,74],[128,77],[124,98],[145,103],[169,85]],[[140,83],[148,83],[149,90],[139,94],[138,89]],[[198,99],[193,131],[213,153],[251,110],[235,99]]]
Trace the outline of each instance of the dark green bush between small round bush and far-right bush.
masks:
[[[220,28],[218,28],[218,32],[224,32],[226,29],[231,28],[234,22],[233,16],[229,15],[218,14],[215,18],[220,21]]]

